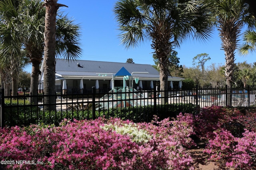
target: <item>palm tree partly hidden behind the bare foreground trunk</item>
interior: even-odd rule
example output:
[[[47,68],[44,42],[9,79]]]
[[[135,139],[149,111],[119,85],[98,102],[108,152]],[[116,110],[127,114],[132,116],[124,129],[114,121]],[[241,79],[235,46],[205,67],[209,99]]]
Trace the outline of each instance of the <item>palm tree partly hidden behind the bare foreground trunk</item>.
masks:
[[[41,0],[26,0],[26,15],[24,23],[25,50],[26,55],[32,63],[32,76],[30,84],[30,92],[37,94],[38,76],[40,72],[40,64],[44,54],[44,22],[45,10],[42,7]],[[56,55],[65,59],[76,59],[81,53],[78,37],[80,36],[79,25],[74,24],[66,15],[61,13],[57,16],[56,21]],[[55,84],[55,72],[54,72]],[[55,92],[55,91],[54,91]],[[37,98],[32,101],[36,103]]]

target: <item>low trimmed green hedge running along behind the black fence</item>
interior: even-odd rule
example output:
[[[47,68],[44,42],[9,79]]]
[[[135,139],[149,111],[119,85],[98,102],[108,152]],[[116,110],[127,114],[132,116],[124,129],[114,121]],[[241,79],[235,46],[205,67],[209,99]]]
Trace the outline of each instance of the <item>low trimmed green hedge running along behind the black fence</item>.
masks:
[[[16,103],[17,104],[17,103]],[[27,105],[29,104],[26,103]],[[8,105],[8,104],[6,104]],[[14,103],[12,102],[12,105]],[[21,103],[19,102],[19,105]],[[134,122],[149,122],[157,115],[160,119],[167,117],[176,117],[180,112],[182,113],[196,113],[196,105],[193,104],[168,104],[157,105],[156,112],[154,106],[138,106],[138,107],[117,107],[109,108],[108,110],[97,109],[96,117],[105,116],[118,117],[121,119],[130,119]],[[21,107],[5,109],[5,123],[6,125],[30,125],[32,124],[55,124],[58,125],[63,119],[92,119],[92,109],[81,109],[73,111],[42,111],[37,107],[30,107],[23,105]],[[19,114],[18,114],[19,113]]]

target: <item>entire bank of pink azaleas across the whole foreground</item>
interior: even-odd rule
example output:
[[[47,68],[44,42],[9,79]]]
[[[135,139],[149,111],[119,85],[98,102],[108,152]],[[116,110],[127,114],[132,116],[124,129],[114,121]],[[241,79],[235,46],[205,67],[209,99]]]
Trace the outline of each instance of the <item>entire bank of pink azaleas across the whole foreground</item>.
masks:
[[[253,110],[212,106],[151,123],[102,117],[2,128],[0,160],[44,162],[6,165],[13,170],[188,170],[194,168],[187,149],[197,135],[210,160],[250,170],[256,169],[255,120]]]

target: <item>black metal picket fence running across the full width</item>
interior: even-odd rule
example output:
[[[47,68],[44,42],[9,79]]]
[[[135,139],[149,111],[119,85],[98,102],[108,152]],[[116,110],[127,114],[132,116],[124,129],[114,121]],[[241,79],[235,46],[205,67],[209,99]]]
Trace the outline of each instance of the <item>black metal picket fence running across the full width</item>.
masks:
[[[22,96],[4,96],[2,89],[0,123],[1,127],[31,123],[58,125],[63,119],[96,119],[101,116],[148,122],[154,115],[160,119],[176,117],[180,112],[197,113],[200,107],[212,105],[254,107],[255,95],[256,90],[249,87],[239,89],[227,86],[161,91],[127,88],[124,92],[120,89],[108,93],[98,93],[93,87],[92,92],[86,94]]]

